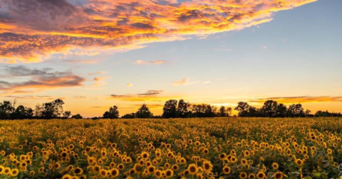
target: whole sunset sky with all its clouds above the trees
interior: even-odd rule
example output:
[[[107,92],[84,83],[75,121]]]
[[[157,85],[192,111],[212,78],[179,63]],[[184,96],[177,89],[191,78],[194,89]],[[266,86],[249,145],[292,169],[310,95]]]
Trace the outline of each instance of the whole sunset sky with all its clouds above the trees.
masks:
[[[341,0],[0,0],[0,101],[342,112]]]

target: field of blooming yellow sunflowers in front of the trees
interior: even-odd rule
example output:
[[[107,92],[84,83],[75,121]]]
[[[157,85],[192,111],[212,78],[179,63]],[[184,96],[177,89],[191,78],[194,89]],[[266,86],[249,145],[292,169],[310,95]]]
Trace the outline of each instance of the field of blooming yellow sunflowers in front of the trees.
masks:
[[[338,178],[342,119],[0,121],[0,178]]]

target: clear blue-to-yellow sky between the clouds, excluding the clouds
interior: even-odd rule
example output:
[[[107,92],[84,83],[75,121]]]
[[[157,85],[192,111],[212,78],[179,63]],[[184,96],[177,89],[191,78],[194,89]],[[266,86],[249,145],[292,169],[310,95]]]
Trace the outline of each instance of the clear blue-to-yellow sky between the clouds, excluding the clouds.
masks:
[[[302,102],[313,111],[323,108],[342,112],[341,8],[342,1],[316,1],[276,11],[271,15],[272,21],[241,30],[187,36],[188,40],[152,41],[145,48],[122,53],[70,53],[84,53],[76,49],[53,53],[40,63],[3,63],[0,67],[50,67],[52,71],[72,72],[85,80],[76,87],[56,87],[30,94],[3,92],[0,99],[28,95],[63,97],[72,111],[82,113],[90,109],[86,116],[101,115],[113,104],[119,109],[122,106],[123,113],[134,112],[142,103],[155,104],[152,111],[160,114],[161,108],[157,106],[167,97],[232,107],[239,101],[299,97],[286,102]],[[138,60],[144,64],[138,64]],[[157,60],[163,63],[153,63]],[[89,75],[95,72],[100,73]],[[25,77],[2,80],[18,82]],[[156,96],[160,100],[110,97],[148,90],[162,91]],[[313,97],[317,99],[312,100]],[[23,98],[19,102],[33,106],[46,100],[32,102]],[[259,106],[262,102],[252,104]]]

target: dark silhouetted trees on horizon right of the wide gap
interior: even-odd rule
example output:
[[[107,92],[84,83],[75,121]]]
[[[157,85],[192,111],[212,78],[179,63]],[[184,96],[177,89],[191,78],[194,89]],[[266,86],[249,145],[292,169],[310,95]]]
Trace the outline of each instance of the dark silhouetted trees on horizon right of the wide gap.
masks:
[[[264,105],[261,108],[252,107],[247,102],[239,102],[237,107],[234,108],[237,110],[238,115],[241,117],[321,117],[321,116],[331,116],[337,117],[342,116],[341,113],[334,112],[322,112],[318,111],[316,114],[311,114],[309,109],[304,110],[301,104],[291,104],[289,107],[286,107],[285,104],[278,103],[273,100],[268,100],[264,102]],[[142,107],[138,109],[136,113],[125,114],[121,118],[124,119],[133,119],[133,118],[202,118],[202,117],[217,117],[217,116],[232,116],[232,108],[231,107],[215,107],[210,104],[190,104],[189,102],[185,102],[183,99],[180,99],[179,102],[175,99],[170,99],[165,102],[164,107],[162,108],[161,116],[153,116],[148,109],[146,104],[142,104]],[[118,119],[119,111],[118,107],[110,107],[108,112],[103,114],[103,118],[105,119]]]

